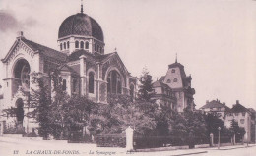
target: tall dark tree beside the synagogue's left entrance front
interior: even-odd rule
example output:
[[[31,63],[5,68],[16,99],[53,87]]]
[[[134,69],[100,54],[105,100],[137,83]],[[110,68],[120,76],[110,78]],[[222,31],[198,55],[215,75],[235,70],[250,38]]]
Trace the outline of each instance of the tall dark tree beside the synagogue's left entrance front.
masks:
[[[32,110],[28,113],[39,124],[39,135],[48,138],[62,138],[65,132],[63,105],[68,95],[63,89],[58,68],[50,69],[47,77],[32,73],[32,88],[28,104]]]

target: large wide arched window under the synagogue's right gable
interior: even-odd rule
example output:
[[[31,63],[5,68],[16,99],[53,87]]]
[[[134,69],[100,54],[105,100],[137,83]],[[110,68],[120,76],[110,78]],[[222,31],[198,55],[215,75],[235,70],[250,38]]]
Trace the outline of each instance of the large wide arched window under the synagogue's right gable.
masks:
[[[107,92],[113,94],[122,93],[122,81],[117,71],[111,71],[107,76]]]

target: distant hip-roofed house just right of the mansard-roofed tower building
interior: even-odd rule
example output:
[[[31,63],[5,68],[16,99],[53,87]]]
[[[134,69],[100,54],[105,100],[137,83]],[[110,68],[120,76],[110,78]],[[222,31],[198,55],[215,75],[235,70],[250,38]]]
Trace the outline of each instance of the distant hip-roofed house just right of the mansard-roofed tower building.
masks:
[[[230,108],[221,103],[220,100],[212,100],[211,102],[206,101],[206,104],[200,108],[200,110],[206,114],[213,113],[217,114],[220,119],[224,120],[225,112],[229,111]]]

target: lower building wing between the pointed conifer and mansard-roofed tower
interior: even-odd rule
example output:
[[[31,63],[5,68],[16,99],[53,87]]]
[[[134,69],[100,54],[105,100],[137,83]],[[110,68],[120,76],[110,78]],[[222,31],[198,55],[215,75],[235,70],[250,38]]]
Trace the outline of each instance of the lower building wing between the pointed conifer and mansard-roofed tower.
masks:
[[[155,93],[153,99],[155,99],[158,104],[167,106],[171,108],[172,111],[177,111],[175,95],[167,84],[157,80],[152,84],[152,87]]]

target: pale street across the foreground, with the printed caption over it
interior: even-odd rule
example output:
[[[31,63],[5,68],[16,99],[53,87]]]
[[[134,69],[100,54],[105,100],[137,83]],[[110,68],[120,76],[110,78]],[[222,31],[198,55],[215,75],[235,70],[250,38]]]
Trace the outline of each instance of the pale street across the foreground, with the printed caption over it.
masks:
[[[73,155],[134,155],[134,156],[178,156],[178,155],[196,155],[196,156],[255,156],[256,146],[254,144],[227,146],[217,148],[197,148],[171,151],[155,152],[131,152],[127,153],[124,148],[106,148],[96,147],[96,144],[78,144],[67,143],[65,141],[49,140],[26,140],[24,138],[0,137],[0,156],[73,156]]]

